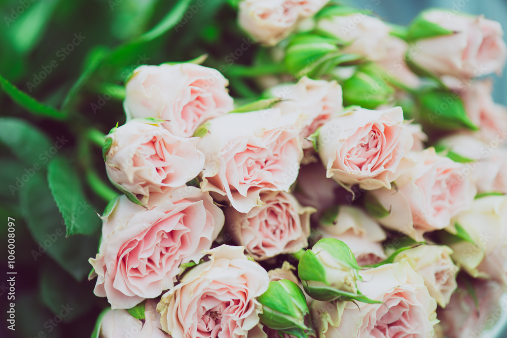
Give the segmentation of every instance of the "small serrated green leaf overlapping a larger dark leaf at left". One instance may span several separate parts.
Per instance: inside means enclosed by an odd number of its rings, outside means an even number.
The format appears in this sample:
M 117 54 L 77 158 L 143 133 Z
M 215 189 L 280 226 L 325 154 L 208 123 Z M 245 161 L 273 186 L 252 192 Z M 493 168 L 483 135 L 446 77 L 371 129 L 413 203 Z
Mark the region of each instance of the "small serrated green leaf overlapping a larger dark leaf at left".
M 101 221 L 83 193 L 79 175 L 62 158 L 48 165 L 48 182 L 67 227 L 67 236 L 91 235 L 100 229 Z

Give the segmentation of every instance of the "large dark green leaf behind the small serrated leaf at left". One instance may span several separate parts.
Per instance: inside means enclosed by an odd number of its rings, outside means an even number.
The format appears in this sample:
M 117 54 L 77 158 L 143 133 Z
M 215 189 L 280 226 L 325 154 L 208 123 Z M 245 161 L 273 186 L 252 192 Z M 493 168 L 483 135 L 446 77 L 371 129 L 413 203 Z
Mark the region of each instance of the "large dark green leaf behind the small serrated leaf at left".
M 19 195 L 28 229 L 39 244 L 30 252 L 34 260 L 48 254 L 76 280 L 84 279 L 90 270 L 88 258 L 95 255 L 98 236 L 65 238 L 64 222 L 41 173 L 30 178 Z

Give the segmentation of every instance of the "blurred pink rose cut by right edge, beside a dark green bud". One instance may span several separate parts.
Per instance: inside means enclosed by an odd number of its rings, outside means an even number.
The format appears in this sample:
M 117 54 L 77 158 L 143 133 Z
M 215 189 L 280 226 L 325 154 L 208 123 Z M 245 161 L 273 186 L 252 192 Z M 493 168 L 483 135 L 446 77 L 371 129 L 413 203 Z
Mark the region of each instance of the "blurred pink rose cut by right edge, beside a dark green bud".
M 467 87 L 461 98 L 470 120 L 480 128 L 478 135 L 495 146 L 507 138 L 507 107 L 493 102 L 491 80 L 477 80 Z

